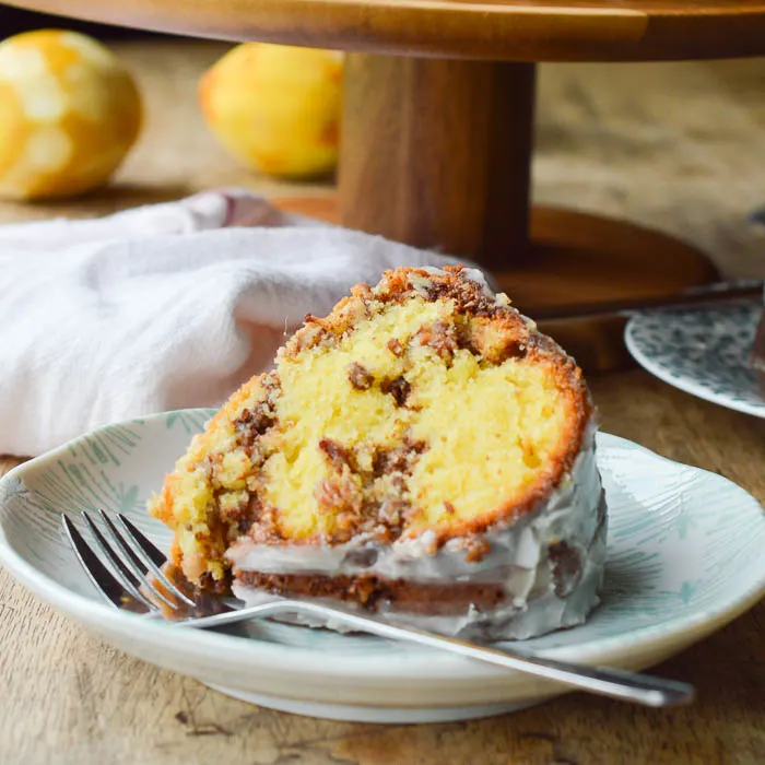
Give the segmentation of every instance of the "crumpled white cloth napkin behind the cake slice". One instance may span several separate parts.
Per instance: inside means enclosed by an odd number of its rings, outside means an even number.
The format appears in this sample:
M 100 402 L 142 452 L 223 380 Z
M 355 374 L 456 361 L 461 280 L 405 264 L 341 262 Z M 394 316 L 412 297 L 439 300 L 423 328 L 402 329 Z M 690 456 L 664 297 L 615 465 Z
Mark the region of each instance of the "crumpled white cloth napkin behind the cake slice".
M 0 226 L 0 454 L 216 405 L 356 282 L 449 262 L 237 190 Z

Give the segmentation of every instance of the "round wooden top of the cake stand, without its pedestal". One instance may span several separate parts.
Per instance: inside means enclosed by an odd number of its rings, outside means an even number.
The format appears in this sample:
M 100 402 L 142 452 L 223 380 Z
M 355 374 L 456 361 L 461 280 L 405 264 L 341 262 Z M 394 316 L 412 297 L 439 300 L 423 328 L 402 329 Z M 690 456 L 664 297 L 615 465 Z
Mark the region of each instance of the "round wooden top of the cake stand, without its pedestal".
M 122 26 L 232 40 L 508 61 L 765 54 L 765 2 L 733 0 L 15 0 Z

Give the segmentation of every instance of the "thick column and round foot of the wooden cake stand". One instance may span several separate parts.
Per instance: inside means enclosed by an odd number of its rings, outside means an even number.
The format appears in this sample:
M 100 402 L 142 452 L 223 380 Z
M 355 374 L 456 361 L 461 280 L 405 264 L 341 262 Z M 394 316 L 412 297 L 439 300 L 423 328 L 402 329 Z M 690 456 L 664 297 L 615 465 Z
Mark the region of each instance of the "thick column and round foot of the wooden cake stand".
M 532 318 L 716 276 L 696 249 L 530 207 L 536 63 L 349 54 L 337 199 L 284 207 L 478 262 Z M 627 363 L 624 319 L 541 323 L 587 372 Z

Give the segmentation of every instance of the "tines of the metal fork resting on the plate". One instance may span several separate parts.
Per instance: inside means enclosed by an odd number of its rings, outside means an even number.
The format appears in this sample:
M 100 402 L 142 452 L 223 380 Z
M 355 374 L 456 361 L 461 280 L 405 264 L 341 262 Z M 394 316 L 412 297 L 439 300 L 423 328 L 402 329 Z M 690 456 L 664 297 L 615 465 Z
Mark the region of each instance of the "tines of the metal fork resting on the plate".
M 111 520 L 104 510 L 98 510 L 101 525 L 92 514 L 83 511 L 81 517 L 93 545 L 85 541 L 71 518 L 62 515 L 64 532 L 89 579 L 113 605 L 140 604 L 144 611 L 152 612 L 161 611 L 161 603 L 173 611 L 184 604 L 193 607 L 193 601 L 162 570 L 167 562 L 162 551 L 121 513 L 115 514 L 116 520 Z

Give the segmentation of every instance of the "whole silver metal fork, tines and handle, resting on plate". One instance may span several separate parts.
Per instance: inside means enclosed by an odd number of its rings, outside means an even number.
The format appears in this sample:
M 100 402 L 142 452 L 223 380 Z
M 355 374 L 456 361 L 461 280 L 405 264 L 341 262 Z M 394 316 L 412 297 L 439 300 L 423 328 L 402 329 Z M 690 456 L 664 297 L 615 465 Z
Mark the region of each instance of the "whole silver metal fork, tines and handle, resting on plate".
M 93 537 L 94 546 L 108 562 L 108 567 L 104 565 L 94 549 L 85 542 L 71 519 L 66 515 L 61 516 L 63 530 L 94 587 L 113 605 L 125 608 L 126 600 L 129 600 L 133 607 L 142 608 L 148 617 L 163 616 L 174 612 L 179 614 L 178 619 L 168 620 L 168 624 L 173 626 L 217 627 L 256 617 L 297 613 L 341 622 L 351 629 L 447 650 L 505 669 L 519 670 L 553 680 L 590 693 L 651 707 L 687 704 L 694 697 L 693 686 L 686 683 L 608 667 L 587 667 L 545 659 L 515 646 L 513 648 L 489 648 L 424 629 L 390 624 L 377 615 L 362 615 L 357 612 L 309 601 L 279 599 L 245 608 L 239 604 L 227 605 L 221 600 L 215 600 L 215 610 L 222 611 L 222 613 L 185 616 L 184 614 L 189 613 L 189 609 L 192 609 L 191 613 L 199 613 L 200 604 L 184 595 L 165 576 L 162 570 L 162 566 L 167 562 L 165 555 L 123 515 L 116 514 L 116 520 L 111 520 L 104 510 L 99 510 L 98 515 L 103 523 L 103 531 L 87 513 L 82 513 L 82 519 Z M 161 586 L 151 581 L 152 576 Z M 208 610 L 209 612 L 210 610 Z

